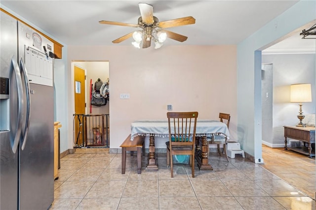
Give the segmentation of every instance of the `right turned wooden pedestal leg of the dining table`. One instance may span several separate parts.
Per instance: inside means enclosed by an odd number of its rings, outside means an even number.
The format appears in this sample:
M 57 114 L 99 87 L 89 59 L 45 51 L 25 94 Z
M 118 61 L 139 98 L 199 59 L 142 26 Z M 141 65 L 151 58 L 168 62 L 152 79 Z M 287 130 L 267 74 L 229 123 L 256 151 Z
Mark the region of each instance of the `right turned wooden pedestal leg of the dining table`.
M 213 170 L 212 166 L 208 164 L 208 142 L 206 140 L 206 136 L 203 136 L 202 141 L 200 142 L 200 139 L 197 138 L 196 143 L 196 160 L 197 160 L 197 166 L 199 170 Z M 198 144 L 198 145 L 197 145 Z M 200 148 L 200 144 L 201 147 Z M 202 150 L 201 150 L 202 149 Z

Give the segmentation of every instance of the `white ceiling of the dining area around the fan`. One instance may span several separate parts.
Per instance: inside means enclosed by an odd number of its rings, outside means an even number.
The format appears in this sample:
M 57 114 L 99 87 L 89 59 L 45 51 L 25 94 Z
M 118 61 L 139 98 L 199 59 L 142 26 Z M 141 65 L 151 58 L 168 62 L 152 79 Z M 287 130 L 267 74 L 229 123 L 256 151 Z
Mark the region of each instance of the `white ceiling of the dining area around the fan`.
M 239 43 L 298 0 L 143 2 L 154 6 L 154 16 L 159 21 L 186 16 L 196 19 L 194 25 L 168 29 L 188 36 L 188 40 L 181 43 L 167 39 L 165 45 L 222 45 Z M 8 12 L 19 14 L 19 18 L 28 20 L 65 45 L 131 45 L 132 38 L 118 44 L 112 41 L 136 28 L 104 25 L 99 21 L 137 24 L 140 17 L 139 1 L 135 0 L 1 0 L 0 3 Z

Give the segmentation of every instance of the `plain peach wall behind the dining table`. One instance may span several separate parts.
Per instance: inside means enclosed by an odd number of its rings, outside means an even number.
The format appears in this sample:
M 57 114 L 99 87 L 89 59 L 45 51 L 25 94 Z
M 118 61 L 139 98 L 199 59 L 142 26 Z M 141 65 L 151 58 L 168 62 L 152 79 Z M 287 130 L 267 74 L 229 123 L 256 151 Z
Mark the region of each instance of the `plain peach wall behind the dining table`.
M 231 139 L 237 140 L 237 47 L 68 46 L 68 68 L 75 60 L 110 62 L 110 147 L 119 148 L 136 119 L 166 119 L 173 111 L 199 112 L 200 119 L 231 113 Z M 69 71 L 68 78 L 72 78 Z M 69 90 L 71 85 L 68 84 Z M 130 99 L 119 99 L 128 93 Z M 69 93 L 70 94 L 70 93 Z M 69 110 L 73 104 L 69 103 Z M 71 127 L 71 126 L 70 126 Z M 163 143 L 156 146 L 164 147 Z

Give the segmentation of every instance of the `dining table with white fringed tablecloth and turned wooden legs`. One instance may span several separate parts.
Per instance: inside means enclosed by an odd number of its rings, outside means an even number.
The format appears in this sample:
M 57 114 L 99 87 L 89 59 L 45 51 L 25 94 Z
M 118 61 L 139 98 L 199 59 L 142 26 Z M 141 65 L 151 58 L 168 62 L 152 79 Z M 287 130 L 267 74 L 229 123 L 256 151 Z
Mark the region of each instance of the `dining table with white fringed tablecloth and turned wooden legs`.
M 213 170 L 208 162 L 208 137 L 220 135 L 229 139 L 227 125 L 218 120 L 197 120 L 195 159 L 199 170 Z M 155 137 L 169 137 L 168 120 L 136 120 L 131 123 L 131 140 L 136 136 L 149 137 L 147 170 L 158 170 L 155 153 Z

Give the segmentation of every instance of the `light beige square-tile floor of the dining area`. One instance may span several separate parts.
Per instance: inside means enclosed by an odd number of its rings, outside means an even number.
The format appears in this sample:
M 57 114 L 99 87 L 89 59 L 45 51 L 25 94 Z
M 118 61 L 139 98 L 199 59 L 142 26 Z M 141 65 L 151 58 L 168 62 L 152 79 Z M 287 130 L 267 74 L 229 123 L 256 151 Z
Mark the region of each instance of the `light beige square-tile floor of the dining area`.
M 158 154 L 158 171 L 137 174 L 137 159 L 127 155 L 121 174 L 121 154 L 105 149 L 77 149 L 61 159 L 50 210 L 315 210 L 316 202 L 260 165 L 239 155 L 226 162 L 210 153 L 213 171 L 195 178 L 185 164 L 166 167 Z

